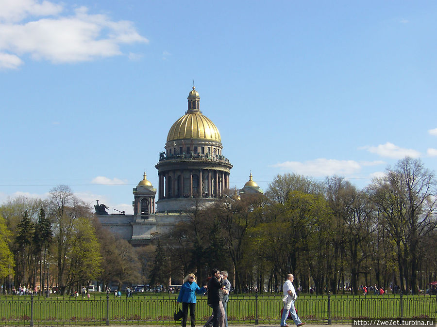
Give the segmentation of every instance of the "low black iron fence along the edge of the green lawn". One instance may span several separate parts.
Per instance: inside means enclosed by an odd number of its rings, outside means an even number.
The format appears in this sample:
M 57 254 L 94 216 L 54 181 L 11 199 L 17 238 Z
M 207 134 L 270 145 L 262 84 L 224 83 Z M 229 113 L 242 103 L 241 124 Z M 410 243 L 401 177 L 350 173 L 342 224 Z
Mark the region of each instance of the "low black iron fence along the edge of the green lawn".
M 230 296 L 229 325 L 279 325 L 282 296 Z M 70 298 L 43 296 L 0 297 L 0 325 L 168 325 L 176 310 L 175 296 L 91 296 Z M 353 318 L 437 318 L 437 296 L 301 296 L 296 308 L 302 321 L 350 323 Z M 196 321 L 211 314 L 206 297 L 198 296 Z

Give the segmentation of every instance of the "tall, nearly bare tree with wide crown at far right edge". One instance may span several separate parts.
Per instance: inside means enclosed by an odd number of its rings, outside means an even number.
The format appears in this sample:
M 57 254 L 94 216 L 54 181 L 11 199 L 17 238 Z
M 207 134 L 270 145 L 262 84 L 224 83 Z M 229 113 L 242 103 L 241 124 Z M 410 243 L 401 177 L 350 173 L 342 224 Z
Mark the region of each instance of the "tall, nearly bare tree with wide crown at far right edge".
M 420 238 L 436 229 L 437 184 L 434 173 L 419 159 L 405 157 L 370 186 L 398 253 L 401 288 L 417 291 Z M 405 279 L 406 285 L 403 285 Z

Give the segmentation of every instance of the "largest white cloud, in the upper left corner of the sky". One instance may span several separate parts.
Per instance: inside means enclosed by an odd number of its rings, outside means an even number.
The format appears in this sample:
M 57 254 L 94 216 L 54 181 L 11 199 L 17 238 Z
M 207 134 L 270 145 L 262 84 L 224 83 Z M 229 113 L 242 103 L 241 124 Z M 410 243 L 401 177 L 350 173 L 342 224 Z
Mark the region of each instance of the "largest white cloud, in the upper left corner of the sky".
M 17 5 L 13 4 L 15 1 Z M 50 1 L 0 1 L 0 51 L 15 56 L 16 62 L 27 54 L 34 60 L 54 63 L 83 62 L 121 55 L 121 44 L 149 42 L 130 21 L 88 14 L 86 7 L 76 9 L 70 16 L 52 16 L 62 9 Z M 43 17 L 30 19 L 34 16 Z M 0 67 L 7 67 L 12 60 L 0 57 Z

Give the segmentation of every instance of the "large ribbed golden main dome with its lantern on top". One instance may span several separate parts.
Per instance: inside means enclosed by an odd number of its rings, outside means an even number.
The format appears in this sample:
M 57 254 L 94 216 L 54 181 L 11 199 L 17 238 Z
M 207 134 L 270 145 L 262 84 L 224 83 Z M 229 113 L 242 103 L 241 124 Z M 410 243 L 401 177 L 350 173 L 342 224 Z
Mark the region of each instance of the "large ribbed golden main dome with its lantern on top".
M 199 93 L 193 90 L 188 94 L 188 110 L 168 131 L 167 142 L 184 139 L 206 139 L 221 142 L 218 128 L 199 109 Z

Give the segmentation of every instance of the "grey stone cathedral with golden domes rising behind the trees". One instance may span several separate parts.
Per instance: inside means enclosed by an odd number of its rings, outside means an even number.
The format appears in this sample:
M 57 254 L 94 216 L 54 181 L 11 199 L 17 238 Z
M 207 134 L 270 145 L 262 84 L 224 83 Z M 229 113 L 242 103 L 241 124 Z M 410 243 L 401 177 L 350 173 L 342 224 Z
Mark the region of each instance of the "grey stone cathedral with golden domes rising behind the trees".
M 158 199 L 156 188 L 143 179 L 133 189 L 134 215 L 108 215 L 104 204 L 95 205 L 102 225 L 133 245 L 147 244 L 168 233 L 179 221 L 187 219 L 195 205 L 207 206 L 230 188 L 232 164 L 223 156 L 220 133 L 214 123 L 202 114 L 200 96 L 195 87 L 188 94 L 188 109 L 170 127 L 165 151 L 159 154 Z M 263 193 L 252 180 L 240 194 Z

